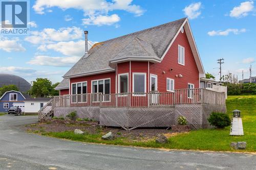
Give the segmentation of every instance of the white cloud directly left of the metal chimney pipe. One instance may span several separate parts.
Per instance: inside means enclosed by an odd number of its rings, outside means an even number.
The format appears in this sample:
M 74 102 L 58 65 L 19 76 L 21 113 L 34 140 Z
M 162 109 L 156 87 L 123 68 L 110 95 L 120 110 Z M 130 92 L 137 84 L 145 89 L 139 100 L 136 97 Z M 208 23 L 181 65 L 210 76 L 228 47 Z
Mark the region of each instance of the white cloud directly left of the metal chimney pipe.
M 84 41 L 58 42 L 55 44 L 40 45 L 40 51 L 54 50 L 66 56 L 82 56 L 84 53 Z

